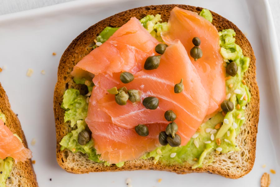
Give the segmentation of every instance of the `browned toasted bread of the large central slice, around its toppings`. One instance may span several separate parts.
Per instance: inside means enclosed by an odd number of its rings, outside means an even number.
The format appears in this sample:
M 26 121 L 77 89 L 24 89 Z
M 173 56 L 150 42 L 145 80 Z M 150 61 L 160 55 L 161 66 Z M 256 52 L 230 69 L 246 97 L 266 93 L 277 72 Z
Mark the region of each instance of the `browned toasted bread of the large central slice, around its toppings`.
M 255 160 L 256 135 L 259 121 L 259 89 L 256 82 L 256 59 L 254 51 L 245 35 L 238 29 L 236 25 L 228 21 L 226 18 L 211 12 L 213 16 L 212 24 L 216 26 L 218 31 L 223 29 L 234 29 L 236 32 L 236 43 L 240 45 L 245 56 L 250 58 L 249 70 L 244 75 L 244 80 L 250 89 L 252 95 L 250 103 L 245 109 L 246 122 L 240 129 L 237 137 L 237 144 L 241 151 L 231 154 L 215 154 L 209 156 L 213 158 L 213 162 L 204 163 L 201 168 L 192 169 L 188 163 L 178 165 L 164 165 L 160 162 L 154 164 L 152 159 L 138 159 L 126 161 L 124 166 L 118 168 L 115 165 L 105 166 L 104 164 L 95 163 L 87 159 L 82 153 L 72 153 L 68 150 L 60 151 L 59 142 L 72 129 L 70 123 L 64 123 L 64 110 L 60 107 L 63 100 L 63 93 L 66 89 L 76 88 L 83 93 L 84 88 L 77 85 L 70 75 L 74 65 L 76 65 L 85 55 L 91 51 L 91 47 L 95 45 L 94 39 L 106 27 L 119 27 L 124 25 L 131 17 L 141 19 L 146 15 L 161 14 L 161 19 L 167 22 L 171 10 L 175 7 L 187 9 L 189 11 L 199 13 L 203 8 L 188 5 L 156 5 L 139 7 L 124 12 L 120 12 L 108 17 L 95 25 L 89 27 L 82 32 L 63 53 L 58 67 L 58 82 L 54 91 L 54 116 L 56 122 L 57 137 L 57 162 L 68 172 L 72 173 L 88 173 L 101 171 L 121 171 L 121 170 L 166 170 L 176 172 L 178 174 L 192 172 L 209 172 L 215 173 L 227 178 L 237 179 L 246 175 L 252 169 Z

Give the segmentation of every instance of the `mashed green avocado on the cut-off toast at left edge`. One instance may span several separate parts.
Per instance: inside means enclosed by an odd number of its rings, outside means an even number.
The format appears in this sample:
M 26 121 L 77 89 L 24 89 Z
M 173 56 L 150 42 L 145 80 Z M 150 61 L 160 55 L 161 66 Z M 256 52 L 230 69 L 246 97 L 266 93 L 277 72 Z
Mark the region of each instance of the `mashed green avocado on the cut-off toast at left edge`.
M 0 112 L 0 120 L 6 122 L 5 114 Z M 6 186 L 6 180 L 10 176 L 10 172 L 13 166 L 13 159 L 7 157 L 4 160 L 0 158 L 0 187 Z

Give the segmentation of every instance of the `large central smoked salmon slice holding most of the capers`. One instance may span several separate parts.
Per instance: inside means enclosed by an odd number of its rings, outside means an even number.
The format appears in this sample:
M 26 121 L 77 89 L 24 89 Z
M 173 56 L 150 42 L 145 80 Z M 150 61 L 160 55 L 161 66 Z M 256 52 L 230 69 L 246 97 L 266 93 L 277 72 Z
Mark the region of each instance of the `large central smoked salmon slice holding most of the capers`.
M 141 60 L 135 63 L 141 63 Z M 119 74 L 104 70 L 93 78 L 96 86 L 92 90 L 85 121 L 92 132 L 96 153 L 101 154 L 100 159 L 118 163 L 139 158 L 154 150 L 160 145 L 159 132 L 164 131 L 169 123 L 164 118 L 166 110 L 176 113 L 181 145 L 186 145 L 206 115 L 209 97 L 181 42 L 174 41 L 166 48 L 156 70 L 138 70 L 134 72 L 134 80 L 128 84 L 120 81 Z M 184 91 L 174 93 L 174 85 L 181 79 Z M 139 90 L 141 100 L 147 96 L 157 97 L 159 106 L 149 110 L 142 102 L 130 101 L 120 106 L 115 102 L 114 95 L 107 92 L 114 86 Z M 147 125 L 147 137 L 135 132 L 134 127 L 138 124 Z

